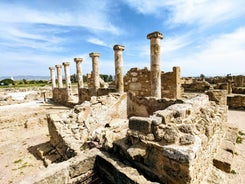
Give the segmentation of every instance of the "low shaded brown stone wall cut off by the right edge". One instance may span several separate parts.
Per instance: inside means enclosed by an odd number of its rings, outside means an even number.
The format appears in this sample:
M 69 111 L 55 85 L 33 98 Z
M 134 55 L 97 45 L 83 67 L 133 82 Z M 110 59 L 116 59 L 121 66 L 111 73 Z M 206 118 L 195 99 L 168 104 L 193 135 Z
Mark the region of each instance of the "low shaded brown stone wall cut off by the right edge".
M 227 105 L 230 109 L 245 110 L 245 95 L 227 96 Z

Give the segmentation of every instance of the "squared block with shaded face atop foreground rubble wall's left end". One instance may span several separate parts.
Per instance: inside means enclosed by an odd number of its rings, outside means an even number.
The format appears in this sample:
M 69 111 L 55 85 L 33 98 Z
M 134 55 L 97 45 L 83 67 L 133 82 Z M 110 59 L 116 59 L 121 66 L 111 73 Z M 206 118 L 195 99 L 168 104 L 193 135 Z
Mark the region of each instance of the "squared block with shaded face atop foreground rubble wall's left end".
M 129 129 L 149 134 L 151 133 L 151 118 L 133 116 L 129 119 Z

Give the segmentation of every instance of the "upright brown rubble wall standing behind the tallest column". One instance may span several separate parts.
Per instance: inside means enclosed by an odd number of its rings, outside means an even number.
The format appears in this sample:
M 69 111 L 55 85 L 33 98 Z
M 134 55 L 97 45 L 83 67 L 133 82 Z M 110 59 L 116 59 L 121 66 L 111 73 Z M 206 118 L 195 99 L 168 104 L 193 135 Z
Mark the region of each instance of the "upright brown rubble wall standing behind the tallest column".
M 151 77 L 148 68 L 131 68 L 124 77 L 124 90 L 140 97 L 151 96 Z M 161 93 L 165 98 L 180 98 L 180 68 L 173 67 L 172 72 L 161 75 Z

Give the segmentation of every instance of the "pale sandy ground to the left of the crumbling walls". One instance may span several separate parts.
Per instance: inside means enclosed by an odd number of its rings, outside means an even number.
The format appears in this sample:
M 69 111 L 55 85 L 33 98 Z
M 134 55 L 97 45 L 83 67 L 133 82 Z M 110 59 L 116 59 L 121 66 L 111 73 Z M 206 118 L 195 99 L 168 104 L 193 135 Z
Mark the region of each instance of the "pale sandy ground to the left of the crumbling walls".
M 18 183 L 44 168 L 33 148 L 49 141 L 46 114 L 67 110 L 42 101 L 0 106 L 0 183 Z

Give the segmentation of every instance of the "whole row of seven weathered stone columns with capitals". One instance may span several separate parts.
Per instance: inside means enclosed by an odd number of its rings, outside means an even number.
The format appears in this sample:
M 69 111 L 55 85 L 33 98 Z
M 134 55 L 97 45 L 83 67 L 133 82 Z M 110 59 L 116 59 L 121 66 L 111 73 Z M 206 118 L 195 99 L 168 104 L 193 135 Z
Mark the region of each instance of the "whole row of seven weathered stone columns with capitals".
M 160 40 L 163 39 L 163 35 L 160 32 L 153 32 L 147 35 L 147 39 L 150 39 L 150 55 L 151 55 L 151 96 L 161 98 L 161 67 L 160 67 Z M 119 93 L 124 92 L 124 83 L 123 83 L 123 56 L 122 51 L 125 47 L 122 45 L 114 45 L 114 59 L 115 59 L 115 84 L 116 89 Z M 92 77 L 94 79 L 93 88 L 96 92 L 100 88 L 100 75 L 99 75 L 99 66 L 98 58 L 99 53 L 92 52 L 89 54 L 92 58 Z M 83 75 L 81 69 L 82 58 L 74 58 L 76 62 L 77 77 L 78 77 L 78 88 L 83 88 Z M 69 71 L 69 62 L 64 62 L 64 70 L 66 76 L 66 88 L 68 91 L 68 96 L 71 95 L 71 81 L 70 81 L 70 71 Z M 62 66 L 56 65 L 57 69 L 57 80 L 58 88 L 62 88 Z M 50 75 L 52 80 L 52 88 L 56 87 L 55 84 L 55 74 L 54 67 L 50 67 Z

